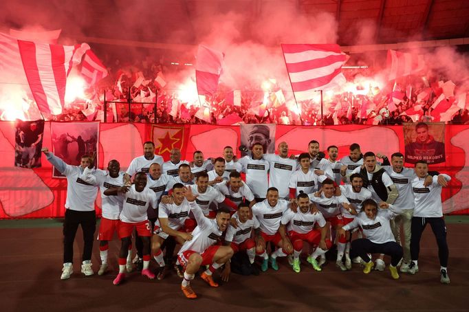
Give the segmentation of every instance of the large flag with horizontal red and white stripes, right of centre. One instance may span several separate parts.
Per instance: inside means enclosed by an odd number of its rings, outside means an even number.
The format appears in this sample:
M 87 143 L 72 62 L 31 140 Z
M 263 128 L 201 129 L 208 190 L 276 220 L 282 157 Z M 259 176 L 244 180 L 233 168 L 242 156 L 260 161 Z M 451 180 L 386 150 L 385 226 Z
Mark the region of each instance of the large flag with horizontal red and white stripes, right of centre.
M 314 98 L 316 90 L 332 89 L 345 83 L 341 73 L 347 55 L 339 45 L 282 45 L 285 65 L 297 101 Z

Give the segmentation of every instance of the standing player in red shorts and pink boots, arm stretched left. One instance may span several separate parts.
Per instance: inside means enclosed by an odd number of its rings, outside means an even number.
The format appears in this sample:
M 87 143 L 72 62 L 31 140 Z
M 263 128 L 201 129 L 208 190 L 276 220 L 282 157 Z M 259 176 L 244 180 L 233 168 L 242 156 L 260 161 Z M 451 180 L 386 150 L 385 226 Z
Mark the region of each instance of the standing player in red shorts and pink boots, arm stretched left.
M 146 215 L 146 210 L 150 204 L 153 207 L 157 206 L 157 197 L 153 190 L 146 188 L 146 179 L 144 172 L 137 172 L 133 186 L 109 188 L 104 192 L 106 196 L 120 196 L 120 199 L 124 202 L 118 227 L 119 238 L 122 242 L 119 252 L 119 274 L 113 280 L 114 285 L 119 285 L 125 279 L 126 259 L 134 228 L 143 243 L 142 276 L 146 276 L 151 280 L 155 278 L 155 274 L 149 269 L 151 223 Z

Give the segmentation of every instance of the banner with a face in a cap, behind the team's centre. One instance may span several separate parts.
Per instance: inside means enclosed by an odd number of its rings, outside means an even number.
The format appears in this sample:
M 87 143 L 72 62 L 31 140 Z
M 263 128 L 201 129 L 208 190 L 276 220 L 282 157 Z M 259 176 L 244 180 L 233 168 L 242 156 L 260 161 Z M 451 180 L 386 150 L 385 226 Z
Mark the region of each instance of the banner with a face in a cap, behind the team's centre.
M 251 151 L 255 143 L 263 146 L 265 154 L 275 152 L 275 124 L 241 124 L 241 146 Z M 244 156 L 247 153 L 241 151 Z

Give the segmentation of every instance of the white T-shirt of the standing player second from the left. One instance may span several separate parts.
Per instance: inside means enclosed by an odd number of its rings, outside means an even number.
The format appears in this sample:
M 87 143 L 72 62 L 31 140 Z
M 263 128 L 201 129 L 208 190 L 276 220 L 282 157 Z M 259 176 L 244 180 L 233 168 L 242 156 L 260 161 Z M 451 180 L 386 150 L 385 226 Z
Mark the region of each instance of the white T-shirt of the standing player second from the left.
M 122 199 L 117 196 L 106 196 L 105 190 L 108 188 L 120 188 L 124 186 L 124 172 L 119 172 L 118 177 L 113 178 L 109 172 L 100 169 L 83 170 L 82 179 L 94 186 L 99 186 L 101 192 L 101 215 L 109 220 L 118 220 L 120 211 L 122 210 Z

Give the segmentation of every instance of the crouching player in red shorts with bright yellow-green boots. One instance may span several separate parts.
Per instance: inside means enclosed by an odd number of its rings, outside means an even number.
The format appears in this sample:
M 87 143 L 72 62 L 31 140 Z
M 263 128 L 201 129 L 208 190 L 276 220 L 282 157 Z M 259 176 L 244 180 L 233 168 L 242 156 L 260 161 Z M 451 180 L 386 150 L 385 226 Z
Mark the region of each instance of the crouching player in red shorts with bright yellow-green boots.
M 326 221 L 323 214 L 317 211 L 311 211 L 307 194 L 298 194 L 296 201 L 298 203 L 298 211 L 285 211 L 279 227 L 279 233 L 282 238 L 286 235 L 286 227 L 290 241 L 292 241 L 293 244 L 293 262 L 290 263 L 290 265 L 292 265 L 293 271 L 296 273 L 301 271 L 300 255 L 303 251 L 303 242 L 307 242 L 309 245 L 317 246 L 316 250 L 307 257 L 307 262 L 311 263 L 316 271 L 321 271 L 321 267 L 318 265 L 316 258 L 325 254 L 332 245 L 331 241 L 326 239 Z M 317 230 L 314 229 L 314 225 L 316 224 L 320 227 Z

